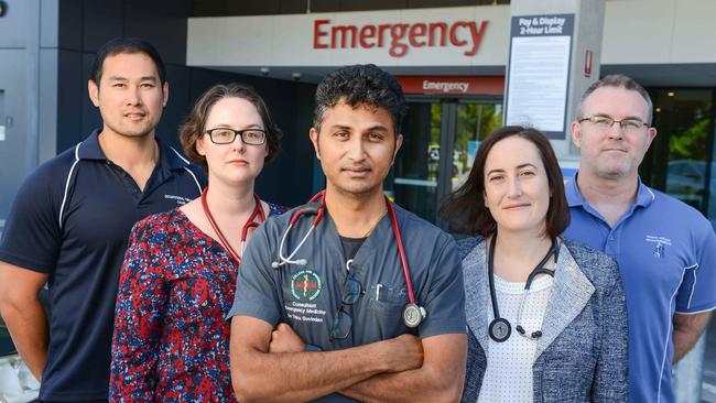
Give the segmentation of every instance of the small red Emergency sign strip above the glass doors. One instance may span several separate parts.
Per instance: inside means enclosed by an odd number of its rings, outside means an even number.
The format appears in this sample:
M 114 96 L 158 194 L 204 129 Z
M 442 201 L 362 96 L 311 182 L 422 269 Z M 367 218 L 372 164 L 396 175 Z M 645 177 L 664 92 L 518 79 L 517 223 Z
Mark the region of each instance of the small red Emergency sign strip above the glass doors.
M 505 94 L 505 77 L 397 77 L 406 95 Z

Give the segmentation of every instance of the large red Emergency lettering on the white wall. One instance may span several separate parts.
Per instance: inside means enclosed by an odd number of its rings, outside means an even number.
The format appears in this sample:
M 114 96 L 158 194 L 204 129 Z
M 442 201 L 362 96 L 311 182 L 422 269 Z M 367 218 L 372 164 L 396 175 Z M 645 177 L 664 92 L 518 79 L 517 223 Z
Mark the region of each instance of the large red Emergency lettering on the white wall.
M 379 25 L 330 25 L 330 20 L 315 20 L 313 48 L 372 48 L 390 46 L 393 57 L 408 54 L 410 47 L 453 46 L 465 47 L 465 56 L 475 56 L 480 47 L 487 21 L 456 21 L 379 24 Z

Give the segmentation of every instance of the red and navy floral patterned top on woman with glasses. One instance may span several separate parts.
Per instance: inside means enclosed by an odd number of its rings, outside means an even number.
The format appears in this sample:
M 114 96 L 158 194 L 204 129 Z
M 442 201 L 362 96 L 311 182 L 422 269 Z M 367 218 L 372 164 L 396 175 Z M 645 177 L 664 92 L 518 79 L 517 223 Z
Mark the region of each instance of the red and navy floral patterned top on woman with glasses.
M 270 216 L 285 207 L 269 204 Z M 237 265 L 178 208 L 132 229 L 119 279 L 111 402 L 236 402 L 229 322 Z

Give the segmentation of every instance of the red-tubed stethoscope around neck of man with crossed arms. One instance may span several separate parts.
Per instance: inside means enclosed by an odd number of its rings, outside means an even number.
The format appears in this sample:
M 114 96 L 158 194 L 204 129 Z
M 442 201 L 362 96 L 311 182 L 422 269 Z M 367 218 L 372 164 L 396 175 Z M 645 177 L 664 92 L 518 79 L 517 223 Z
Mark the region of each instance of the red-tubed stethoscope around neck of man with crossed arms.
M 326 211 L 325 193 L 326 190 L 318 192 L 315 196 L 313 196 L 308 200 L 307 205 L 301 207 L 300 209 L 293 213 L 293 216 L 291 216 L 291 220 L 289 221 L 289 227 L 286 227 L 286 230 L 283 232 L 283 236 L 281 237 L 281 244 L 279 246 L 279 260 L 271 263 L 271 266 L 273 269 L 279 269 L 284 264 L 299 264 L 299 265 L 306 264 L 305 259 L 296 259 L 296 260 L 292 260 L 292 259 L 296 254 L 296 252 L 299 252 L 301 247 L 305 243 L 305 241 L 308 239 L 313 230 L 316 229 L 316 226 L 318 226 L 318 224 L 323 219 L 323 216 L 325 215 Z M 398 254 L 400 255 L 400 263 L 403 268 L 403 277 L 405 279 L 405 288 L 408 291 L 408 304 L 405 304 L 405 307 L 403 308 L 403 323 L 408 327 L 417 327 L 423 322 L 423 319 L 427 317 L 427 312 L 425 311 L 424 307 L 417 305 L 417 302 L 415 299 L 415 294 L 413 292 L 413 282 L 410 279 L 408 258 L 405 257 L 405 250 L 403 249 L 403 240 L 400 236 L 400 229 L 398 228 L 398 219 L 395 218 L 395 209 L 393 208 L 388 197 L 387 196 L 383 197 L 386 198 L 386 207 L 388 208 L 388 213 L 390 215 L 390 221 L 393 227 L 393 236 L 395 237 L 395 244 L 398 246 Z M 286 237 L 291 231 L 291 229 L 295 226 L 296 221 L 299 221 L 299 218 L 301 218 L 301 216 L 303 215 L 315 215 L 316 217 L 313 219 L 313 224 L 311 225 L 311 228 L 308 228 L 308 231 L 301 239 L 301 241 L 293 250 L 293 252 L 289 253 L 288 257 L 284 257 L 283 246 L 285 243 Z

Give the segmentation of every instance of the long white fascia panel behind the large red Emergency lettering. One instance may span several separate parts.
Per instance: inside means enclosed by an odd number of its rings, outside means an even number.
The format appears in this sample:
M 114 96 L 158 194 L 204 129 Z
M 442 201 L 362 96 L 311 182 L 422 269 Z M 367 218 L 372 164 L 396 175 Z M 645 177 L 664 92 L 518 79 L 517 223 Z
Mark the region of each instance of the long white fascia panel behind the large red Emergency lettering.
M 315 20 L 332 25 L 487 20 L 475 56 L 456 46 L 410 48 L 402 57 L 382 48 L 313 48 Z M 507 62 L 509 6 L 336 12 L 291 15 L 191 18 L 187 34 L 189 66 L 340 66 L 375 63 L 381 66 L 495 66 Z M 468 40 L 465 31 L 460 40 Z M 325 40 L 325 37 L 324 37 Z M 403 40 L 406 42 L 406 40 Z

